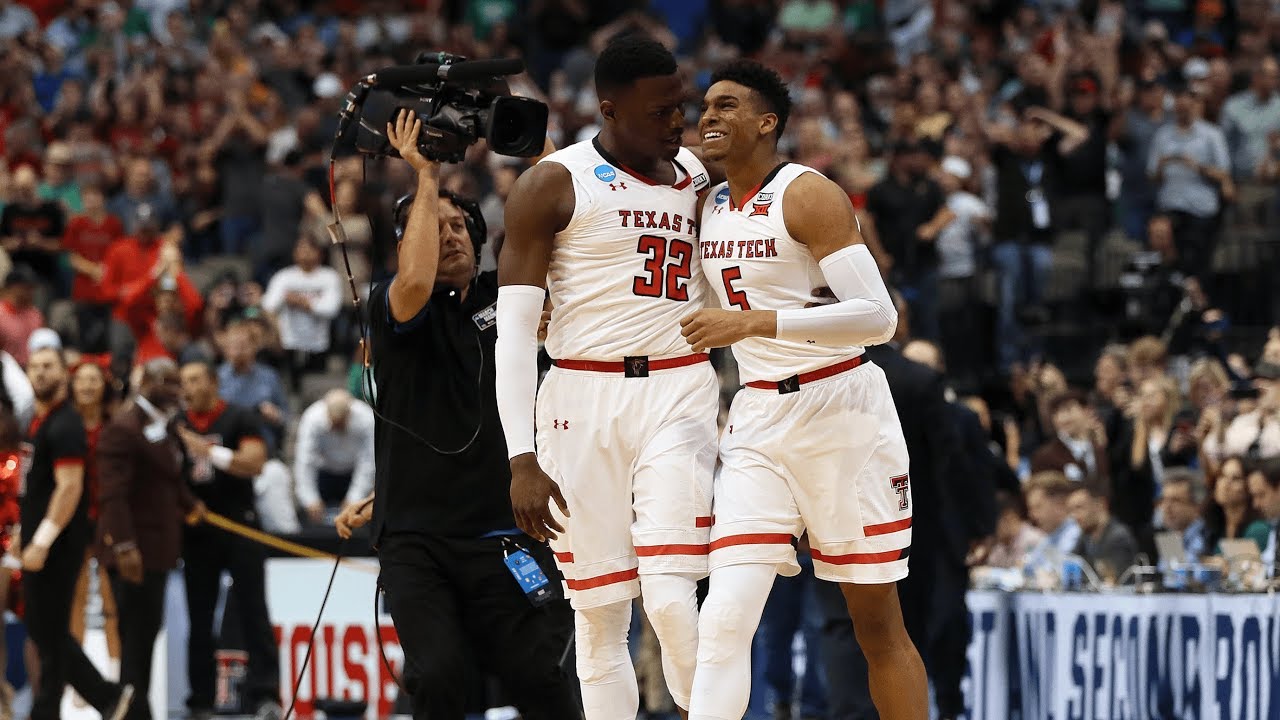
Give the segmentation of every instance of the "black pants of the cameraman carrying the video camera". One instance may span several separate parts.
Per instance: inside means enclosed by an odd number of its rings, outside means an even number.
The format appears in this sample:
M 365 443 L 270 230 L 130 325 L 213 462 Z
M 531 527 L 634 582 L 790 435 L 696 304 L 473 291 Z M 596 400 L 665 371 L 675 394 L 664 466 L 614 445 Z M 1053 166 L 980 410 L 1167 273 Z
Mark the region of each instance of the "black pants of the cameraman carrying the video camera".
M 525 536 L 553 585 L 550 551 Z M 561 660 L 572 635 L 568 603 L 534 607 L 503 562 L 499 538 L 397 533 L 381 539 L 379 582 L 404 648 L 415 720 L 462 720 L 474 657 L 502 683 L 525 720 L 581 717 Z

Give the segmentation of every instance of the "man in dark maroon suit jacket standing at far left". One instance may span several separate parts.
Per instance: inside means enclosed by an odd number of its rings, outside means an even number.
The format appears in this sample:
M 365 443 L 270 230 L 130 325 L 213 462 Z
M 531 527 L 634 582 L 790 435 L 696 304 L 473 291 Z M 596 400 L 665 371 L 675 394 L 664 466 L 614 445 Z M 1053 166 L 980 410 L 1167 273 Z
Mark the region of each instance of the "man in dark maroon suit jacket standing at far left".
M 204 514 L 187 487 L 182 441 L 170 427 L 180 391 L 173 360 L 151 360 L 142 366 L 137 397 L 102 429 L 97 446 L 101 560 L 119 607 L 120 680 L 140 693 L 131 720 L 151 719 L 146 698 L 165 580 L 178 566 L 183 516 L 193 523 Z

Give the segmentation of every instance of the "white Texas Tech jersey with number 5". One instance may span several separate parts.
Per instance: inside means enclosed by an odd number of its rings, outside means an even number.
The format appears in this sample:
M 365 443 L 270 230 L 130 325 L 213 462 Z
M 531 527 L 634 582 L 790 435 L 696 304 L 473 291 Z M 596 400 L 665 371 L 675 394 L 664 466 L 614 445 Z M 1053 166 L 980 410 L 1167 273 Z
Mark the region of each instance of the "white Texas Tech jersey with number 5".
M 809 249 L 787 233 L 782 197 L 791 181 L 813 168 L 785 163 L 760 187 L 730 199 L 728 183 L 712 188 L 703 206 L 703 272 L 727 310 L 788 310 L 822 302 L 822 268 Z M 820 173 L 818 173 L 820 174 Z M 855 345 L 824 346 L 753 337 L 733 345 L 742 382 L 781 380 L 861 355 Z

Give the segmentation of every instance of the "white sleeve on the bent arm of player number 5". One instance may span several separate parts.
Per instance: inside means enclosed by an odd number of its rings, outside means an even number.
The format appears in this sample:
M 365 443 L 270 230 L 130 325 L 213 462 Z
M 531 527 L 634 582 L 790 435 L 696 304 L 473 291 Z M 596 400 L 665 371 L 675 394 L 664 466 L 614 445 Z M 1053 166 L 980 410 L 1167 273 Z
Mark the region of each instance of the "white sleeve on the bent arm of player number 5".
M 778 340 L 819 345 L 879 345 L 893 337 L 897 310 L 876 259 L 851 245 L 822 261 L 822 274 L 840 302 L 778 310 Z

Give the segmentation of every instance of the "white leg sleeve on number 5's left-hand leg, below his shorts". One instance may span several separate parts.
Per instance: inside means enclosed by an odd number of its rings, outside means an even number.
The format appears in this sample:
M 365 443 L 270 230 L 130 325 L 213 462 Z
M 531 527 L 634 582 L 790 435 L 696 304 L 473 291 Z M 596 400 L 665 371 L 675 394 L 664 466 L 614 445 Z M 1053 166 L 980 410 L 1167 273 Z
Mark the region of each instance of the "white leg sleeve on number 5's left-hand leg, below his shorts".
M 751 638 L 777 568 L 730 565 L 712 571 L 698 619 L 698 671 L 689 720 L 740 720 L 751 696 Z

